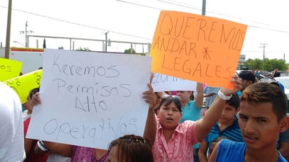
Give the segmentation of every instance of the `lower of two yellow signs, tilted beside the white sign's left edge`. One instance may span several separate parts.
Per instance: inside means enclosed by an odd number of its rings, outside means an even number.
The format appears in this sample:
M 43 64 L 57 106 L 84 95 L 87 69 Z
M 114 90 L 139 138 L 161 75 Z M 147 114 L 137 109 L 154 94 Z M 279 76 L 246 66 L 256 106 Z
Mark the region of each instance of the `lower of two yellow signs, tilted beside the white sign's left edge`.
M 19 95 L 22 103 L 27 101 L 27 96 L 33 88 L 40 87 L 42 78 L 42 69 L 18 76 L 13 79 L 4 81 L 8 86 L 10 86 Z

